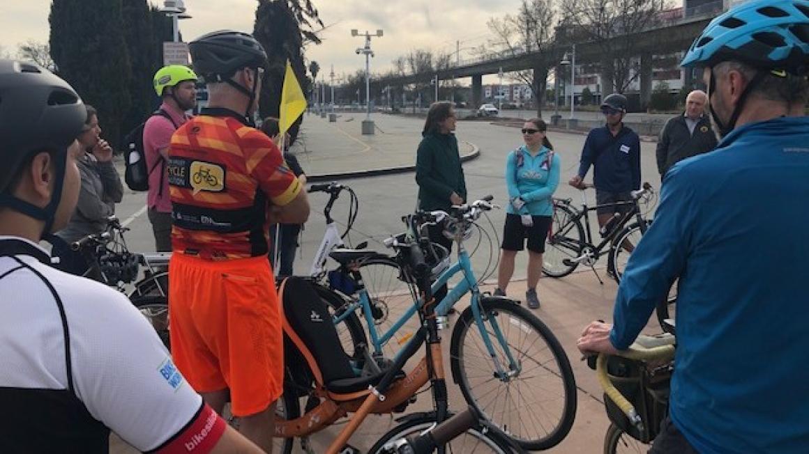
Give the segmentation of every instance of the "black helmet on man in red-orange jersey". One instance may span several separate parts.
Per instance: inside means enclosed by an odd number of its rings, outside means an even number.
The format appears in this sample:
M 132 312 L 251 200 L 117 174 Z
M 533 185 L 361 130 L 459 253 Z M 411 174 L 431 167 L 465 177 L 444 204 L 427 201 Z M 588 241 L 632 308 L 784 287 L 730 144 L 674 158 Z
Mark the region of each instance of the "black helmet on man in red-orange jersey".
M 230 78 L 242 68 L 264 68 L 267 53 L 251 35 L 220 30 L 200 36 L 188 44 L 194 71 L 203 77 Z

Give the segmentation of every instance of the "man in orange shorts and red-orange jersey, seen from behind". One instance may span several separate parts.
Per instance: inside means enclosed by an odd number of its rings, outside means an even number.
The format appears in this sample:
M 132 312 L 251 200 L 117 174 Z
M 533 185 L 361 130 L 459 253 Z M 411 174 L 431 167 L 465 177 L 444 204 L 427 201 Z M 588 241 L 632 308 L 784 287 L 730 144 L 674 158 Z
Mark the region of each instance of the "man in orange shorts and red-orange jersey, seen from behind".
M 210 98 L 168 152 L 172 355 L 214 410 L 231 401 L 239 431 L 270 452 L 283 345 L 268 226 L 303 223 L 309 204 L 273 141 L 252 128 L 267 64 L 261 45 L 224 31 L 189 48 Z

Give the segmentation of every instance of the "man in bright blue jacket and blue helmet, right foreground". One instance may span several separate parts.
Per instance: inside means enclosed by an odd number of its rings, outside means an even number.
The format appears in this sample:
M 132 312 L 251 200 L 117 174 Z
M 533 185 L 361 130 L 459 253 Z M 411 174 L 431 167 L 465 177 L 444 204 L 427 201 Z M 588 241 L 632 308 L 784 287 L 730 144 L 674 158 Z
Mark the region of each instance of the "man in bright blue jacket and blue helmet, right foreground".
M 744 3 L 694 41 L 683 66 L 704 68 L 723 138 L 667 172 L 615 325 L 578 340 L 587 353 L 629 347 L 679 276 L 669 415 L 651 453 L 809 449 L 807 11 Z

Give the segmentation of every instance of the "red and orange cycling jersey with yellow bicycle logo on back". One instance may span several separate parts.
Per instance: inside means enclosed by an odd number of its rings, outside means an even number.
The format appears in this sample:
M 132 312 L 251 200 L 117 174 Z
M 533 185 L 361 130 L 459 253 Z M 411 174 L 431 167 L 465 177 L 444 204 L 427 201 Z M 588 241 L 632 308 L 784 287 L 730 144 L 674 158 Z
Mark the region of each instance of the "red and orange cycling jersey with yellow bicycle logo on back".
M 301 184 L 273 141 L 227 109 L 204 109 L 172 136 L 172 249 L 225 260 L 267 253 L 267 207 Z

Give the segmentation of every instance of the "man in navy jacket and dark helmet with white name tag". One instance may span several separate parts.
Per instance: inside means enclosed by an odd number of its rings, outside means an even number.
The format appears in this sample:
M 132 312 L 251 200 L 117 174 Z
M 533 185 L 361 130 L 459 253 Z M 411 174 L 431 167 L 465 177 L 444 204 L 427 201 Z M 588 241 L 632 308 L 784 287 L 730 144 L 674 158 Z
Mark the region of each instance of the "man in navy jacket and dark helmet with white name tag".
M 595 210 L 601 227 L 616 212 L 629 210 L 629 204 L 616 203 L 631 201 L 630 192 L 641 188 L 641 139 L 623 123 L 626 104 L 626 97 L 617 93 L 604 98 L 601 112 L 607 124 L 587 134 L 578 174 L 569 182 L 583 189 L 582 180 L 590 166 L 594 167 L 595 203 L 604 205 Z

